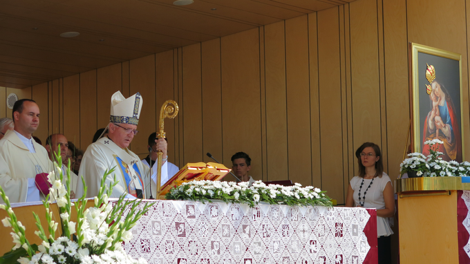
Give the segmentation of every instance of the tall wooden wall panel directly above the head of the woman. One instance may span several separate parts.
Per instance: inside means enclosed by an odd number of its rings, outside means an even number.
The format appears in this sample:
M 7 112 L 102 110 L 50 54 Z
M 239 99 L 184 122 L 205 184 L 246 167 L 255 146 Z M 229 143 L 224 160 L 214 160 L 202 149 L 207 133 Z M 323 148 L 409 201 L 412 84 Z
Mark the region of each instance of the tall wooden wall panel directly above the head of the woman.
M 354 140 L 351 155 L 354 155 L 355 150 L 364 142 L 374 142 L 379 147 L 382 144 L 377 37 L 376 1 L 362 0 L 350 3 Z

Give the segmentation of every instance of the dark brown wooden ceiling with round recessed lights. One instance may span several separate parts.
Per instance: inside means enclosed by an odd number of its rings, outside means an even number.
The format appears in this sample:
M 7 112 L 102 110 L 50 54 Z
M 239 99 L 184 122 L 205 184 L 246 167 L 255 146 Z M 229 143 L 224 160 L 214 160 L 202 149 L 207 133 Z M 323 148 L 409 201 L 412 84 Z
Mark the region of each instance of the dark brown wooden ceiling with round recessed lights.
M 41 84 L 354 0 L 173 1 L 0 0 L 0 86 Z

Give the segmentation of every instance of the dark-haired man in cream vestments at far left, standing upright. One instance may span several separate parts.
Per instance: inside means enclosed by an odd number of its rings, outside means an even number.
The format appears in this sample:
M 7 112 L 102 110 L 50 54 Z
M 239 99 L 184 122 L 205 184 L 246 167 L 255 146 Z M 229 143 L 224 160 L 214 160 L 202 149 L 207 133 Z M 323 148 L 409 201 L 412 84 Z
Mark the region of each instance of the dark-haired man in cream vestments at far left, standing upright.
M 35 179 L 44 183 L 45 173 L 53 171 L 53 163 L 46 149 L 32 140 L 39 126 L 39 106 L 29 99 L 15 102 L 13 122 L 15 129 L 6 131 L 0 140 L 0 185 L 10 202 L 41 200 L 44 195 Z

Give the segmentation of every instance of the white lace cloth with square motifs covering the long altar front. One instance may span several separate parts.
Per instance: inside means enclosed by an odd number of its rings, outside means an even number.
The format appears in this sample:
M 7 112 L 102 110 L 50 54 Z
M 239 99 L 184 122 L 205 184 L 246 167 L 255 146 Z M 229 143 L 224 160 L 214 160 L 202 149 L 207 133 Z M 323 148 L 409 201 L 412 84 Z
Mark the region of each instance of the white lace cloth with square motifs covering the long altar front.
M 158 200 L 124 249 L 153 264 L 363 263 L 364 208 Z

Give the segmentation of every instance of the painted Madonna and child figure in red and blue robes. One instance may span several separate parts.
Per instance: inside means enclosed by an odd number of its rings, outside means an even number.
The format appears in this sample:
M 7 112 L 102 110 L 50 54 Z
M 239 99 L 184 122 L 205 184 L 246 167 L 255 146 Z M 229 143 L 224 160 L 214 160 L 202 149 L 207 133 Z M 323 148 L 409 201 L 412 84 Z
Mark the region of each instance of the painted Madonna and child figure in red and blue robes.
M 431 111 L 424 122 L 423 142 L 438 138 L 438 151 L 444 153 L 443 160 L 462 162 L 462 138 L 452 98 L 443 84 L 434 79 L 429 93 Z M 423 144 L 423 154 L 429 155 L 429 145 Z

